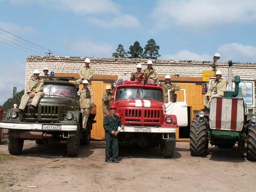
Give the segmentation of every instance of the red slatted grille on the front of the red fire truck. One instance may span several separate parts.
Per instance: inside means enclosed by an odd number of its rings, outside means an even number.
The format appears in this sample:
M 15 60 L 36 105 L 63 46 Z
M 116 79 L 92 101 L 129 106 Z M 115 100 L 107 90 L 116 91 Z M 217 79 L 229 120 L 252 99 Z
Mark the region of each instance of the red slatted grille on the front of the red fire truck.
M 160 122 L 160 116 L 159 110 L 125 110 L 126 122 Z

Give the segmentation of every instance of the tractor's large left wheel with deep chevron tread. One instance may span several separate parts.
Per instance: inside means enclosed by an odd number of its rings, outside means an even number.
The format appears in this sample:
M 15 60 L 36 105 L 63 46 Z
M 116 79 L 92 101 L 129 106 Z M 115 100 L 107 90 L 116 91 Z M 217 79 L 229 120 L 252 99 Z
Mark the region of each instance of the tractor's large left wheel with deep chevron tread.
M 206 156 L 208 144 L 206 122 L 198 122 L 198 118 L 194 118 L 190 127 L 189 146 L 191 156 Z

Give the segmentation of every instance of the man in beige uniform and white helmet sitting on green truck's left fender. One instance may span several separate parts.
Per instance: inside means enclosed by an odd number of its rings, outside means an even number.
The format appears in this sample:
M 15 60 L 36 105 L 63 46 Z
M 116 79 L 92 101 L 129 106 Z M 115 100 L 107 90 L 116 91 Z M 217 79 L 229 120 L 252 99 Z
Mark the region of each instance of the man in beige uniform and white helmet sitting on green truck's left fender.
M 40 72 L 37 69 L 33 71 L 34 77 L 28 82 L 27 90 L 20 101 L 18 113 L 24 113 L 24 109 L 29 101 L 29 98 L 33 98 L 31 104 L 29 105 L 29 112 L 31 114 L 34 113 L 34 110 L 42 97 L 42 92 L 44 91 L 44 80 L 39 78 L 39 74 Z

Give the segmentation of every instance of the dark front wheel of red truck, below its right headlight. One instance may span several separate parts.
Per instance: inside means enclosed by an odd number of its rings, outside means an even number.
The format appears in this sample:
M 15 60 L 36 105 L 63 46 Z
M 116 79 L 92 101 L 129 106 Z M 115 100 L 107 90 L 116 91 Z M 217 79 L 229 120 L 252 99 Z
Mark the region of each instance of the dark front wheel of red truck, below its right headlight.
M 169 133 L 169 139 L 163 139 L 160 143 L 161 156 L 165 158 L 172 158 L 174 156 L 176 147 L 175 133 Z

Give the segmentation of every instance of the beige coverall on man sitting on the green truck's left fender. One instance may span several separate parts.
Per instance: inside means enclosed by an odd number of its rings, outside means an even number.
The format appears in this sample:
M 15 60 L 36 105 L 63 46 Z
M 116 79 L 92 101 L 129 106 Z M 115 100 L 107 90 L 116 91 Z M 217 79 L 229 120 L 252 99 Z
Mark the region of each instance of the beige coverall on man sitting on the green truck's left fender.
M 22 96 L 22 100 L 20 101 L 19 109 L 24 110 L 28 100 L 29 100 L 29 93 L 35 93 L 34 98 L 32 99 L 31 104 L 34 106 L 37 106 L 39 103 L 41 97 L 42 97 L 42 92 L 44 91 L 44 80 L 42 79 L 30 79 L 28 84 L 27 84 L 27 90 L 26 93 Z

